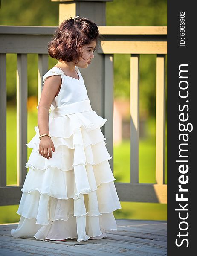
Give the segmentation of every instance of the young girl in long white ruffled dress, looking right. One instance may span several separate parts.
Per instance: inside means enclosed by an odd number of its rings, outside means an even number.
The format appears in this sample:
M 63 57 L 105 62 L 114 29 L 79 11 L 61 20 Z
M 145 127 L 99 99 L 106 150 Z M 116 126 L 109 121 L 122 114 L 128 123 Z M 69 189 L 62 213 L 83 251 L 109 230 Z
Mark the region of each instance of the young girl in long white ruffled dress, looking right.
M 98 37 L 96 24 L 77 16 L 62 22 L 48 44 L 58 63 L 43 76 L 14 237 L 80 242 L 117 230 L 113 211 L 122 207 L 100 129 L 107 119 L 92 110 L 78 69 L 93 61 Z

